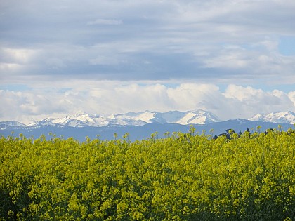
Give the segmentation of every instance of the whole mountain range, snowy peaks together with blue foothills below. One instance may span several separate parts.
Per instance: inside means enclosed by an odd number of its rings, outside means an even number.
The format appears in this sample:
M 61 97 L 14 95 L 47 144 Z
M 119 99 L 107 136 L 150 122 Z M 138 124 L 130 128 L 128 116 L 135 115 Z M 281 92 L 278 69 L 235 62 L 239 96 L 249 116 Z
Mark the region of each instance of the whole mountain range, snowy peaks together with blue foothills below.
M 126 114 L 112 114 L 110 116 L 98 116 L 96 114 L 79 114 L 65 116 L 63 118 L 46 118 L 41 121 L 25 125 L 18 121 L 0 122 L 0 135 L 8 136 L 13 132 L 15 136 L 20 133 L 26 137 L 39 138 L 49 133 L 64 138 L 73 137 L 78 140 L 96 138 L 114 138 L 114 133 L 122 136 L 129 133 L 131 140 L 145 139 L 157 131 L 159 138 L 164 133 L 183 132 L 188 133 L 190 125 L 194 125 L 198 133 L 213 130 L 214 135 L 225 133 L 225 130 L 232 128 L 235 131 L 244 131 L 247 128 L 252 130 L 261 126 L 261 130 L 277 128 L 279 124 L 284 130 L 293 128 L 295 123 L 294 112 L 275 112 L 270 114 L 256 114 L 250 119 L 231 119 L 221 121 L 218 116 L 211 112 L 197 109 L 195 111 L 170 111 L 170 112 L 129 112 Z

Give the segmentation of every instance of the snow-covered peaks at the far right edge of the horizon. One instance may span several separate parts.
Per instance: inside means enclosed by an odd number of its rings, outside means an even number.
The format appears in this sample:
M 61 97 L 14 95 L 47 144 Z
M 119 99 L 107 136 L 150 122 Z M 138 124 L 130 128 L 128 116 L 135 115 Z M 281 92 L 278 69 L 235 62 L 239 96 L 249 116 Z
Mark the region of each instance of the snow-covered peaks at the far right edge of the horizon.
M 250 121 L 263 121 L 271 123 L 295 123 L 295 114 L 294 112 L 274 112 L 270 114 L 256 114 L 252 116 Z

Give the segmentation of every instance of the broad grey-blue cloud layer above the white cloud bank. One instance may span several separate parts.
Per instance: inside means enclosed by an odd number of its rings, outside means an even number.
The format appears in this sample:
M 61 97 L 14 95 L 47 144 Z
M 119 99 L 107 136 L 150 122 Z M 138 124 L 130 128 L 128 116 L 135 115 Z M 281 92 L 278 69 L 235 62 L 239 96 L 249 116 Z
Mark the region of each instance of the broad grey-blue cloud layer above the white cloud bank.
M 0 4 L 0 68 L 11 81 L 31 74 L 295 81 L 295 58 L 278 48 L 284 36 L 295 37 L 294 1 Z

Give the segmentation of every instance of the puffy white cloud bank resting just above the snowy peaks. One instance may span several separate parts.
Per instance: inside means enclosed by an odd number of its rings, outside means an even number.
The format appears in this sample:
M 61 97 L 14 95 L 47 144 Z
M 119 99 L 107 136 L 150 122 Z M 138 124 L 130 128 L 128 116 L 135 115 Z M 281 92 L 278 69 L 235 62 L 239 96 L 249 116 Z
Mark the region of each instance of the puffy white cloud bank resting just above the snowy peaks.
M 76 83 L 80 86 L 76 86 Z M 72 89 L 60 90 L 2 90 L 0 120 L 14 119 L 29 123 L 28 121 L 34 119 L 79 112 L 108 115 L 130 111 L 166 112 L 199 108 L 209 110 L 226 120 L 249 119 L 257 113 L 295 111 L 295 91 L 287 94 L 278 90 L 263 91 L 230 85 L 222 93 L 214 84 L 181 83 L 176 87 L 170 87 L 160 83 L 139 85 L 110 81 L 77 81 L 72 86 Z

